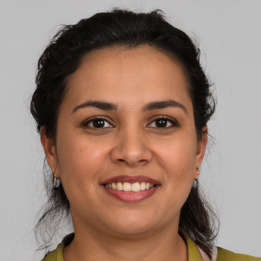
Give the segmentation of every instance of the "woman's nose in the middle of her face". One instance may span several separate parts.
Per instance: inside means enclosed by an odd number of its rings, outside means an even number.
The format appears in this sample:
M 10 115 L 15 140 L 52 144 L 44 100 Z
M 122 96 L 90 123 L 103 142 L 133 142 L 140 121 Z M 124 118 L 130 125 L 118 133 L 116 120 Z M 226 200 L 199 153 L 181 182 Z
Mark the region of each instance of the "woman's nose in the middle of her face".
M 145 165 L 152 159 L 149 142 L 138 129 L 122 129 L 115 138 L 111 159 L 130 167 Z

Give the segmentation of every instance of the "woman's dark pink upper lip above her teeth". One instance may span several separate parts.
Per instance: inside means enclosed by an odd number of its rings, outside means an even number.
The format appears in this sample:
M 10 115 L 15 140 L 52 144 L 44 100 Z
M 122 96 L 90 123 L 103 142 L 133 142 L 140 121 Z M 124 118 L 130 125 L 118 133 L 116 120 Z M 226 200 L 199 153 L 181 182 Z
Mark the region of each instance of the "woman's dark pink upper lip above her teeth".
M 114 176 L 106 179 L 105 181 L 101 182 L 101 185 L 103 184 L 110 184 L 110 183 L 117 183 L 117 182 L 128 182 L 128 183 L 135 183 L 135 182 L 148 182 L 152 185 L 160 185 L 160 182 L 150 178 L 146 177 L 143 175 L 134 175 L 134 176 L 129 176 L 129 175 L 119 175 L 119 176 Z

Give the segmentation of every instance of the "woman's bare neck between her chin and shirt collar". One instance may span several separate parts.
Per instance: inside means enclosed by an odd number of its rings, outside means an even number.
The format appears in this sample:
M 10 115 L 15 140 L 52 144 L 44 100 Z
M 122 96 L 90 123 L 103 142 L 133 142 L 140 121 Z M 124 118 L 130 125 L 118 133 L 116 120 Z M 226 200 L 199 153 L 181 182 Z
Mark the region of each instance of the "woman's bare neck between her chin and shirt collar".
M 187 261 L 188 251 L 178 228 L 166 226 L 131 236 L 112 236 L 95 228 L 75 228 L 74 240 L 64 249 L 64 261 L 132 260 Z

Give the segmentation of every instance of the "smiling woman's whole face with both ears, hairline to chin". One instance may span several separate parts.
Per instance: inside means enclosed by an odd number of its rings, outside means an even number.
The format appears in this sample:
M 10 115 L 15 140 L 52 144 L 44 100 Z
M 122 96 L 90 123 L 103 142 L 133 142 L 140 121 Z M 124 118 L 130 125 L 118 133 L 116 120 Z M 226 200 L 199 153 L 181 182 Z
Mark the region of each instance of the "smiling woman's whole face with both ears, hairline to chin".
M 67 88 L 56 145 L 44 133 L 42 144 L 75 231 L 177 228 L 206 141 L 179 63 L 152 47 L 96 50 Z

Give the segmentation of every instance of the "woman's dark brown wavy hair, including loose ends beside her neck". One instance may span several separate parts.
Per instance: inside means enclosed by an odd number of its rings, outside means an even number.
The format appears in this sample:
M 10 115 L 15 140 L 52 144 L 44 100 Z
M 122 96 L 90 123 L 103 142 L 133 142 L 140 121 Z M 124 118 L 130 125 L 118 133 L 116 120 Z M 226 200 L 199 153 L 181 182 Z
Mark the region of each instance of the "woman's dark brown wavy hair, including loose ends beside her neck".
M 31 113 L 37 130 L 45 126 L 47 137 L 56 140 L 58 110 L 66 92 L 68 77 L 79 67 L 82 58 L 95 49 L 110 46 L 135 48 L 148 45 L 175 57 L 185 70 L 193 104 L 197 137 L 202 138 L 203 127 L 215 111 L 211 84 L 200 64 L 200 50 L 183 31 L 173 27 L 160 10 L 136 13 L 114 9 L 82 19 L 74 25 L 63 26 L 50 41 L 38 61 L 36 90 L 31 101 Z M 63 186 L 51 188 L 46 183 L 48 202 L 36 231 L 49 228 L 45 243 L 56 231 L 51 224 L 62 222 L 69 216 L 70 206 Z M 187 233 L 196 244 L 211 254 L 216 237 L 212 208 L 192 188 L 181 208 L 180 233 Z

